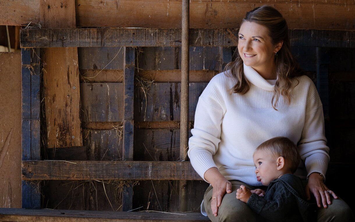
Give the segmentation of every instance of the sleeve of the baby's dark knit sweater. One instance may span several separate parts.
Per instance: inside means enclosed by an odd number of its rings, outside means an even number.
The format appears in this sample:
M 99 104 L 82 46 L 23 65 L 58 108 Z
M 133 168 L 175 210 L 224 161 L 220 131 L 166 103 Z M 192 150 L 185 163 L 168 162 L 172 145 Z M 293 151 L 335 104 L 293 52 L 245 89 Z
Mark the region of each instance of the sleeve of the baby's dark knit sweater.
M 284 221 L 289 216 L 290 209 L 295 210 L 297 201 L 291 192 L 286 192 L 284 186 L 275 184 L 271 199 L 260 197 L 253 193 L 247 205 L 258 215 L 271 221 Z

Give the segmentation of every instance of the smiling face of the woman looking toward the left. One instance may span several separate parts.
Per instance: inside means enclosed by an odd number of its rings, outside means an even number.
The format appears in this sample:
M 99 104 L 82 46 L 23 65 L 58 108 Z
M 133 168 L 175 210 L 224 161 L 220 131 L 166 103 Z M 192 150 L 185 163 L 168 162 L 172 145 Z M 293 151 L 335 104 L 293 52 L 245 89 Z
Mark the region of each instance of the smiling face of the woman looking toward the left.
M 256 70 L 268 70 L 274 64 L 275 52 L 267 28 L 255 22 L 243 22 L 238 34 L 238 51 L 244 64 Z

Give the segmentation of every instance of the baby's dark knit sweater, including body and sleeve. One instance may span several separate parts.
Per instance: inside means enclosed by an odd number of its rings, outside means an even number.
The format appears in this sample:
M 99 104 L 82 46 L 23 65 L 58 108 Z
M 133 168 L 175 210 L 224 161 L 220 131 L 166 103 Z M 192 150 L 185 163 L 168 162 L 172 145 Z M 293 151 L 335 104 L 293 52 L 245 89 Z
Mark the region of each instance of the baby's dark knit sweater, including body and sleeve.
M 317 204 L 305 197 L 301 179 L 288 173 L 271 181 L 264 197 L 253 193 L 247 205 L 268 221 L 316 221 Z

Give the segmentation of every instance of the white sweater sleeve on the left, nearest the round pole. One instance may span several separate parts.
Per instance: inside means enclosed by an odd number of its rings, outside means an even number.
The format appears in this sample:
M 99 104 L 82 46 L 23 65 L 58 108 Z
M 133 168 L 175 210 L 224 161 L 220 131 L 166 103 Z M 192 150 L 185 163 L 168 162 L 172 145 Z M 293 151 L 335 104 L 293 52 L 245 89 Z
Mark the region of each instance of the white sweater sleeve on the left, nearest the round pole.
M 198 99 L 187 152 L 193 169 L 204 181 L 204 173 L 212 167 L 217 167 L 212 156 L 218 149 L 224 115 L 220 105 L 221 96 L 214 86 L 214 81 L 215 78 L 209 82 Z

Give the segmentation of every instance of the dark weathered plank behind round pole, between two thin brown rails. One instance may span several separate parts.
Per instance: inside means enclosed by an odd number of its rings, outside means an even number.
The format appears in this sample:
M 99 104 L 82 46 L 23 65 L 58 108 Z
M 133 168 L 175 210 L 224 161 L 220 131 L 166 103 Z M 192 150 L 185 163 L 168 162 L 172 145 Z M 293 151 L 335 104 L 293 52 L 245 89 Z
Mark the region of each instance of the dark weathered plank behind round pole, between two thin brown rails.
M 189 119 L 195 119 L 195 109 L 207 83 L 190 83 Z M 153 83 L 144 93 L 135 90 L 135 121 L 178 121 L 180 120 L 180 83 Z

